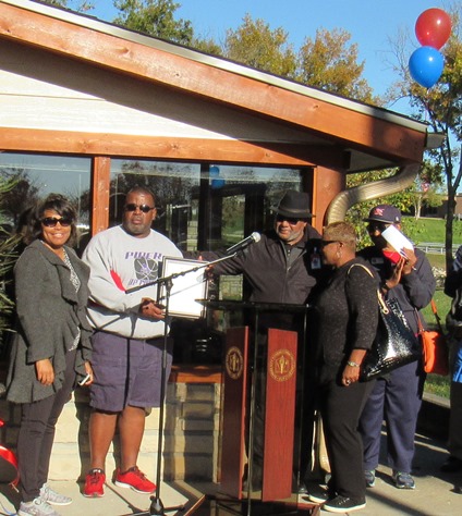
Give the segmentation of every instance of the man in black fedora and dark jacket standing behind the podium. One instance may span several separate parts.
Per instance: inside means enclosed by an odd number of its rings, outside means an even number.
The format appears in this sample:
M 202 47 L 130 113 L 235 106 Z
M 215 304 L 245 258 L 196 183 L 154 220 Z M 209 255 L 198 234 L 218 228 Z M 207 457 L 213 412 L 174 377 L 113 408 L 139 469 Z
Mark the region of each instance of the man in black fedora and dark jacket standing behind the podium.
M 255 303 L 277 303 L 289 305 L 306 305 L 309 294 L 321 273 L 320 234 L 309 224 L 309 196 L 306 193 L 289 189 L 278 206 L 271 210 L 276 213 L 273 229 L 262 234 L 262 238 L 250 245 L 244 251 L 229 260 L 214 266 L 216 274 L 243 274 L 250 285 L 248 299 Z M 204 258 L 210 259 L 208 254 Z M 288 310 L 289 311 L 289 310 Z M 301 317 L 299 316 L 299 319 Z M 303 334 L 303 323 L 297 316 L 290 312 L 275 314 L 259 317 L 259 328 L 279 328 L 285 330 L 300 329 Z M 259 342 L 262 340 L 259 339 Z M 301 343 L 300 347 L 306 346 Z M 256 397 L 258 405 L 264 403 L 264 388 L 258 389 Z M 305 396 L 305 401 L 308 396 Z M 308 403 L 308 402 L 306 402 Z M 258 421 L 256 427 L 263 425 Z M 301 477 L 308 466 L 312 444 L 312 422 L 306 417 L 306 437 L 302 437 L 302 447 L 306 455 L 302 456 Z M 304 420 L 305 422 L 305 420 Z M 257 433 L 258 430 L 255 432 Z M 259 477 L 259 460 L 262 459 L 262 442 L 254 442 L 253 471 L 256 481 Z M 306 492 L 304 488 L 303 492 Z

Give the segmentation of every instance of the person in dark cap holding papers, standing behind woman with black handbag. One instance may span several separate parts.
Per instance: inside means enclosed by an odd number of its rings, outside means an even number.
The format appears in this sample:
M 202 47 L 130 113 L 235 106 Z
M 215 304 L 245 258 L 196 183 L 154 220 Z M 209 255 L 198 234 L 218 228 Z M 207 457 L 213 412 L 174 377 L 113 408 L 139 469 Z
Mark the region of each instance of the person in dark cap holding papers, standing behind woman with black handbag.
M 358 255 L 377 270 L 381 291 L 387 298 L 397 298 L 415 333 L 420 310 L 430 303 L 435 278 L 425 254 L 420 249 L 394 249 L 382 236 L 393 225 L 401 230 L 401 212 L 391 205 L 378 205 L 365 219 L 374 245 Z M 412 247 L 412 246 L 411 246 Z M 399 489 L 414 489 L 411 476 L 414 457 L 414 434 L 422 403 L 425 373 L 420 361 L 402 366 L 377 380 L 360 422 L 364 445 L 364 475 L 367 487 L 375 483 L 380 451 L 382 420 L 387 421 L 388 464 Z

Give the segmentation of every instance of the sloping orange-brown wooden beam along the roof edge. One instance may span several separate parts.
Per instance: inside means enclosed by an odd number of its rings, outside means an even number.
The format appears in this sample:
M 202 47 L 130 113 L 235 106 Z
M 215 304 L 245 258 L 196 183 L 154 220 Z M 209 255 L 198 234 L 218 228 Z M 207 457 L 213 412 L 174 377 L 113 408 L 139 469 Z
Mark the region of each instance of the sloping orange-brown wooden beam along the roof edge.
M 380 156 L 421 162 L 426 134 L 392 121 L 301 95 L 157 48 L 0 4 L 0 37 L 153 81 L 214 101 L 305 127 Z M 307 88 L 308 90 L 308 88 Z

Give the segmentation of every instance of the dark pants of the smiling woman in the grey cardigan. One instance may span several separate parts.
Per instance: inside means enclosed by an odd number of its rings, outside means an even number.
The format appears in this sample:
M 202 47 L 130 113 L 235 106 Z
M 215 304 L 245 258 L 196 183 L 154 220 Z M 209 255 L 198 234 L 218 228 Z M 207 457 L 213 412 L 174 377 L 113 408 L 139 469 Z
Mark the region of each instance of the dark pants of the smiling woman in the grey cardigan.
M 21 406 L 21 427 L 17 435 L 20 493 L 23 502 L 39 495 L 48 479 L 51 449 L 58 418 L 69 402 L 75 382 L 75 351 L 66 354 L 66 370 L 62 388 L 52 396 Z

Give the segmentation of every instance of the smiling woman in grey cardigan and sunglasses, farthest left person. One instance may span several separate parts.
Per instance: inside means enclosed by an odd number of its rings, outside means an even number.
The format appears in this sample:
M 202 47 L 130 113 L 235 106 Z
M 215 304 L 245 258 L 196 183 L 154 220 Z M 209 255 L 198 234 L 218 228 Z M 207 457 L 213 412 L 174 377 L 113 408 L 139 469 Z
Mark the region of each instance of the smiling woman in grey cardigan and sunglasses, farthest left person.
M 57 516 L 49 504 L 68 505 L 47 484 L 54 427 L 76 379 L 90 383 L 90 328 L 86 319 L 88 267 L 69 247 L 76 216 L 50 194 L 31 217 L 14 268 L 16 333 L 7 397 L 21 404 L 17 438 L 20 516 Z

